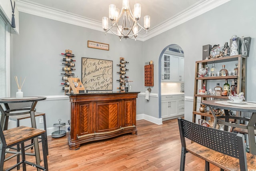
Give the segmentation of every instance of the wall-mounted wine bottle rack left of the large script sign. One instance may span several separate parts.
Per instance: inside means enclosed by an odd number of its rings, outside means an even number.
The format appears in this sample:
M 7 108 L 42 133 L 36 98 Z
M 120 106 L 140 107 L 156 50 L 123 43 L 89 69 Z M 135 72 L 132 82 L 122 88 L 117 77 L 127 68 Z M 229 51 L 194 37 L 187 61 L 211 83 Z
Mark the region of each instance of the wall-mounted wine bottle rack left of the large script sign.
M 68 78 L 72 78 L 75 76 L 74 73 L 72 73 L 75 67 L 74 62 L 76 62 L 76 60 L 73 60 L 72 58 L 75 57 L 74 54 L 72 54 L 72 50 L 65 50 L 65 53 L 62 53 L 62 55 L 65 56 L 65 58 L 63 58 L 63 65 L 64 67 L 62 68 L 62 71 L 64 71 L 65 73 L 61 73 L 64 76 L 62 77 L 62 80 L 64 81 L 64 83 L 61 83 L 62 85 L 64 85 L 64 87 L 62 87 L 62 89 L 65 91 L 65 94 L 68 92 L 70 93 L 70 82 L 68 82 Z M 65 63 L 64 63 L 65 62 Z

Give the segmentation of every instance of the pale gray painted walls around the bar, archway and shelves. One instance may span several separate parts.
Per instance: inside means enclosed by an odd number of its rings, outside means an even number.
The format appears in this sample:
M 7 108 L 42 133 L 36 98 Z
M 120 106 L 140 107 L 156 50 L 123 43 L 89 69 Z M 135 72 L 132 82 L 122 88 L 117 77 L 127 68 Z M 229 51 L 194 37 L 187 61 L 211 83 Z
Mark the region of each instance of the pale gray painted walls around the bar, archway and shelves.
M 81 57 L 113 60 L 119 63 L 122 56 L 130 62 L 127 76 L 132 80 L 132 90 L 145 92 L 144 87 L 144 62 L 154 61 L 154 87 L 152 93 L 158 94 L 158 61 L 160 54 L 166 46 L 177 44 L 184 50 L 185 57 L 185 118 L 192 119 L 192 104 L 194 93 L 195 61 L 202 60 L 202 46 L 206 44 L 224 45 L 229 42 L 232 35 L 252 37 L 250 57 L 248 58 L 247 92 L 248 101 L 256 101 L 256 1 L 232 0 L 184 24 L 172 28 L 145 42 L 122 40 L 111 34 L 74 26 L 25 14 L 20 12 L 20 35 L 12 36 L 12 64 L 11 83 L 12 96 L 17 87 L 14 76 L 27 77 L 22 91 L 25 96 L 63 95 L 62 86 L 62 57 L 65 49 L 73 50 L 76 55 L 76 75 L 80 76 Z M 234 18 L 233 20 L 231 20 Z M 148 33 L 150 34 L 150 33 Z M 110 44 L 110 51 L 87 48 L 87 40 Z M 113 80 L 118 80 L 118 67 L 113 70 Z M 118 87 L 114 81 L 113 90 Z M 158 118 L 159 94 L 145 101 L 144 96 L 137 100 L 137 114 L 146 114 Z M 50 101 L 50 102 L 49 102 Z M 69 116 L 69 106 L 63 101 L 63 106 L 58 100 L 49 98 L 49 101 L 38 102 L 37 109 L 46 112 L 48 127 L 62 119 L 66 122 Z M 45 105 L 44 105 L 45 104 Z M 46 106 L 47 105 L 47 106 Z M 49 107 L 50 106 L 50 107 Z M 62 108 L 62 109 L 60 109 Z M 49 133 L 48 133 L 49 134 Z

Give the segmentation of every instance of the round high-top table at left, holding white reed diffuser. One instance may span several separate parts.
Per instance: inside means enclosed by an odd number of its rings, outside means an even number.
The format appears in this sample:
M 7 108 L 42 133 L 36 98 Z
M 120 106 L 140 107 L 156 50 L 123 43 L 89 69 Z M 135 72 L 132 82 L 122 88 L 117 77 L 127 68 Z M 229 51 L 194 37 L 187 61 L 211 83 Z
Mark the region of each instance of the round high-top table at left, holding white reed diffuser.
M 6 130 L 8 128 L 8 119 L 10 115 L 22 115 L 30 113 L 31 125 L 36 128 L 36 119 L 35 119 L 35 107 L 38 101 L 45 100 L 46 97 L 6 97 L 0 99 L 0 103 L 3 103 L 5 109 L 0 105 L 1 111 L 1 120 L 0 126 L 1 129 Z M 34 139 L 35 146 L 35 155 L 36 155 L 36 164 L 40 165 L 40 151 L 38 145 L 38 139 Z M 39 171 L 39 169 L 38 169 Z

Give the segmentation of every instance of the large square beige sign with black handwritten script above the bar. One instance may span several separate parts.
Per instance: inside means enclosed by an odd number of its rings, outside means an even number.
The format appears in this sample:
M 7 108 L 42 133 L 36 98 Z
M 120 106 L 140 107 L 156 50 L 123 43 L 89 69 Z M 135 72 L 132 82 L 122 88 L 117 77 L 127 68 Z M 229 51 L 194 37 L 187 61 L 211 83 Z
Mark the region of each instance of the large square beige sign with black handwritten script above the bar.
M 113 89 L 113 61 L 82 58 L 82 84 L 88 91 Z

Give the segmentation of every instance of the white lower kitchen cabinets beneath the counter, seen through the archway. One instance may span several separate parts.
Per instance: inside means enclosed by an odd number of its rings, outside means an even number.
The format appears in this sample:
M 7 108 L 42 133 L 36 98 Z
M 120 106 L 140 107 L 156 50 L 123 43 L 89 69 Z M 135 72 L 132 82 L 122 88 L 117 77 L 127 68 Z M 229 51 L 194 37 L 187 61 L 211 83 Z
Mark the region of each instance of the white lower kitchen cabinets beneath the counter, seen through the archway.
M 162 119 L 184 115 L 184 95 L 162 95 L 161 115 Z

